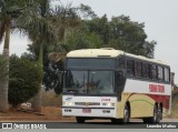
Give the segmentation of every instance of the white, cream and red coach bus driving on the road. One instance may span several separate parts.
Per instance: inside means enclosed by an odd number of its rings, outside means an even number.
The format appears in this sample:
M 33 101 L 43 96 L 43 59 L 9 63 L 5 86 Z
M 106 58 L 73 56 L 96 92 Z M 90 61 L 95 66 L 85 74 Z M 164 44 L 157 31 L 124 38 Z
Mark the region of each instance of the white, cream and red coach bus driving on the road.
M 168 64 L 111 48 L 75 50 L 67 54 L 62 115 L 78 123 L 130 118 L 159 123 L 170 113 Z

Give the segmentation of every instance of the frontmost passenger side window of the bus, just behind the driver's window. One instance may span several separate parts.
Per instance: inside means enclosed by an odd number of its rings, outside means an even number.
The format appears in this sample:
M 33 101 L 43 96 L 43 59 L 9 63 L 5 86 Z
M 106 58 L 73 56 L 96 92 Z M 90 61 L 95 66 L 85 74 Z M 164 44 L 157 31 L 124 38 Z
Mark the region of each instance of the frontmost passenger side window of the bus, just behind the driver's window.
M 127 74 L 129 77 L 135 75 L 135 61 L 134 60 L 127 60 Z

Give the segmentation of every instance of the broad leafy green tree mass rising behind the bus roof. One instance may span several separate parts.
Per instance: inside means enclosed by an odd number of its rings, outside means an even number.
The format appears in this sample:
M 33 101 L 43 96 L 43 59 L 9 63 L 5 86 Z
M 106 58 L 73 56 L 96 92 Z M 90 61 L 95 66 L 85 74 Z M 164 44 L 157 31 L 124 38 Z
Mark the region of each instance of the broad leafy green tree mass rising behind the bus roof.
M 131 21 L 127 16 L 101 18 L 85 21 L 89 32 L 102 40 L 101 47 L 111 47 L 129 53 L 154 58 L 156 41 L 147 41 L 145 24 Z M 77 34 L 76 34 L 77 35 Z

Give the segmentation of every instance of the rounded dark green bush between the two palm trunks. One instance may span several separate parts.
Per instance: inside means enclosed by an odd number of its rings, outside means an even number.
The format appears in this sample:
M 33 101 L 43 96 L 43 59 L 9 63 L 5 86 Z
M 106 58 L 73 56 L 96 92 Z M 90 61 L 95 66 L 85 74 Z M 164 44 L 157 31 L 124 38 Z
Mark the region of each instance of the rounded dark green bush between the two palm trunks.
M 40 87 L 41 74 L 37 62 L 30 61 L 27 55 L 10 57 L 9 103 L 13 106 L 34 97 Z

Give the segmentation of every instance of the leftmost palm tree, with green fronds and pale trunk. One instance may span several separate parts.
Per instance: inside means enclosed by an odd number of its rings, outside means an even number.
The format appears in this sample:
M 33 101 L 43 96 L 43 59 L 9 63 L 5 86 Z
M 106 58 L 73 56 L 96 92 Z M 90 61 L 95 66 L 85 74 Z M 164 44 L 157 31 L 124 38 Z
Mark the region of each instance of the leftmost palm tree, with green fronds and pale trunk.
M 14 28 L 20 29 L 20 31 L 24 31 L 28 21 L 32 20 L 32 18 L 38 17 L 34 11 L 38 10 L 37 4 L 39 1 L 43 0 L 0 0 L 0 43 L 4 38 L 2 54 L 7 60 L 7 72 L 9 71 L 10 33 Z M 3 101 L 3 103 L 0 103 L 0 111 L 6 112 L 9 109 L 9 78 L 7 77 L 6 79 L 1 80 L 1 83 L 0 101 Z

